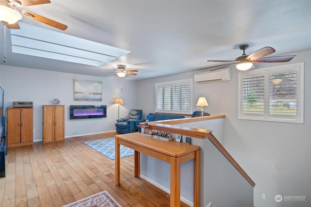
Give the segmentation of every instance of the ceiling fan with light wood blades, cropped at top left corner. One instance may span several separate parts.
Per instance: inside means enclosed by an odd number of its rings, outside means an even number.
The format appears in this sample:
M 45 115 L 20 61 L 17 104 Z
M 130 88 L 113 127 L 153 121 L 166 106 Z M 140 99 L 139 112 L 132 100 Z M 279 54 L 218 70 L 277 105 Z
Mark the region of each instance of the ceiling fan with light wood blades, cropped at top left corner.
M 50 25 L 60 30 L 66 30 L 67 25 L 46 18 L 44 16 L 37 15 L 33 12 L 26 10 L 19 11 L 16 7 L 26 7 L 38 4 L 51 3 L 50 0 L 0 0 L 0 21 L 6 25 L 9 29 L 20 29 L 18 20 L 23 16 Z

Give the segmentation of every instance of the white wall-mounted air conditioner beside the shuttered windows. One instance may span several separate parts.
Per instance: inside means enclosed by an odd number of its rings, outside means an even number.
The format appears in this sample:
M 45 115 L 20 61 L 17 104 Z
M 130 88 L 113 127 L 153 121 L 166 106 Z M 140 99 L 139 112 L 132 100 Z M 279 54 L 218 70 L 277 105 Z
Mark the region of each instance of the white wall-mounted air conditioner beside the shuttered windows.
M 210 83 L 231 80 L 231 68 L 194 74 L 194 82 Z

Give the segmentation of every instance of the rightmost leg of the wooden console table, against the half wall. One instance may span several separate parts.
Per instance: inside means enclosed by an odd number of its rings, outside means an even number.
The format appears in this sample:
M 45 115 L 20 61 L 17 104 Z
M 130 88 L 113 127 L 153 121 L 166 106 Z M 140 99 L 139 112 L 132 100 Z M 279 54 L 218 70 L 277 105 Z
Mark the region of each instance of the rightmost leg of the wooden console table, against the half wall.
M 193 207 L 200 207 L 200 150 L 194 152 Z

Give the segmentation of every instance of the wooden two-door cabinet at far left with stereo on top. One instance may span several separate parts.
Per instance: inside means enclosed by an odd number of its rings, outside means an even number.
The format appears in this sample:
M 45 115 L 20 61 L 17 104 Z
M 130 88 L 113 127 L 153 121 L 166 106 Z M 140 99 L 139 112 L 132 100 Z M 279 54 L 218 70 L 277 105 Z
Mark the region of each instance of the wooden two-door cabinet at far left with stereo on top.
M 8 147 L 33 144 L 33 108 L 8 108 Z

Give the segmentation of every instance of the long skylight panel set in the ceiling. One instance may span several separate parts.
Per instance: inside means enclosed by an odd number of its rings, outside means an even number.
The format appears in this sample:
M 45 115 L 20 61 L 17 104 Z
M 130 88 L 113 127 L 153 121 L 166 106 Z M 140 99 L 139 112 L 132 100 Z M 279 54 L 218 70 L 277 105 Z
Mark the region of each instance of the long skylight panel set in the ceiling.
M 11 30 L 12 52 L 101 66 L 130 51 L 18 22 Z

